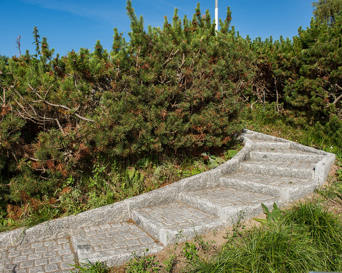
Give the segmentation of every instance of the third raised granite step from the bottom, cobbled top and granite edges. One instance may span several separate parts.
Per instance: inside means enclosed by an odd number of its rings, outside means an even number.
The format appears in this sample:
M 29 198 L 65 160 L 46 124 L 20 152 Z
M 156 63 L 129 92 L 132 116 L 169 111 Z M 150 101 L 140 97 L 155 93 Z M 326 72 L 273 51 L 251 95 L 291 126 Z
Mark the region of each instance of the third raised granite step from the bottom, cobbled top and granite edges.
M 180 199 L 200 211 L 220 217 L 225 225 L 237 222 L 240 213 L 247 218 L 262 213 L 261 203 L 271 209 L 273 203 L 278 201 L 278 198 L 264 193 L 224 186 L 184 192 L 180 194 Z

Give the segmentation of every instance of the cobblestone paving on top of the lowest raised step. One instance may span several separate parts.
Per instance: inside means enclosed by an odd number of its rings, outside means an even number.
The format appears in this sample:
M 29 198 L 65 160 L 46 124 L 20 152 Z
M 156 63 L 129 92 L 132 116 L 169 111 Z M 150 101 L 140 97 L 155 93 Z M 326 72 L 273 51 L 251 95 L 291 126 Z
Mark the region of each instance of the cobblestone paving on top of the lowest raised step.
M 84 233 L 95 252 L 153 243 L 145 231 L 129 222 L 119 222 L 84 228 Z

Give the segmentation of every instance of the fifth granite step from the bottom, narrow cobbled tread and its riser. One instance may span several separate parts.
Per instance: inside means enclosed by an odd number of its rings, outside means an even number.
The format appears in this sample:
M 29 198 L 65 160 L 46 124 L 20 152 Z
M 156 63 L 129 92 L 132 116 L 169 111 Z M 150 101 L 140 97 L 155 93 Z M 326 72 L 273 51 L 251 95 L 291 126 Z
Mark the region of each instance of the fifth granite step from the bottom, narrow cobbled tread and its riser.
M 248 160 L 240 164 L 240 171 L 314 179 L 315 163 L 291 161 Z

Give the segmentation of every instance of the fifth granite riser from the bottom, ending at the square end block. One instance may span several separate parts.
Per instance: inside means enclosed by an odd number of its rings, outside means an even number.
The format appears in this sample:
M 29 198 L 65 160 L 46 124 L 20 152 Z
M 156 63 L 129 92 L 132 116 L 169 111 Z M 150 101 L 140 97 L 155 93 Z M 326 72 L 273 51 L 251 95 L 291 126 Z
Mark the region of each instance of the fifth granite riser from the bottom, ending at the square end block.
M 278 175 L 287 177 L 297 177 L 304 179 L 314 179 L 314 171 L 311 169 L 291 169 L 282 167 L 269 167 L 256 164 L 241 163 L 240 171 L 248 173 L 260 173 L 268 175 Z

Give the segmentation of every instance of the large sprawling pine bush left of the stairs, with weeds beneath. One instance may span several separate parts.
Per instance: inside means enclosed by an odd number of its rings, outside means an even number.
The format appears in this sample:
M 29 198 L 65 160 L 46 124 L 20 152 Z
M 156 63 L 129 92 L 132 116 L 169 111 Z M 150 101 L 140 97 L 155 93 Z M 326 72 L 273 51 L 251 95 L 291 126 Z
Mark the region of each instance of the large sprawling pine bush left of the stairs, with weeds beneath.
M 35 27 L 35 55 L 0 58 L 0 172 L 14 206 L 49 196 L 59 213 L 78 213 L 142 193 L 154 186 L 137 159 L 221 147 L 242 128 L 236 86 L 249 80 L 250 59 L 228 31 L 230 13 L 216 35 L 199 5 L 192 21 L 182 25 L 176 9 L 172 23 L 147 30 L 126 8 L 130 42 L 115 28 L 110 52 L 97 40 L 92 52 L 60 57 Z M 113 160 L 122 170 L 110 170 Z M 165 183 L 207 169 L 163 168 Z

